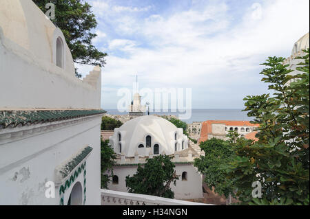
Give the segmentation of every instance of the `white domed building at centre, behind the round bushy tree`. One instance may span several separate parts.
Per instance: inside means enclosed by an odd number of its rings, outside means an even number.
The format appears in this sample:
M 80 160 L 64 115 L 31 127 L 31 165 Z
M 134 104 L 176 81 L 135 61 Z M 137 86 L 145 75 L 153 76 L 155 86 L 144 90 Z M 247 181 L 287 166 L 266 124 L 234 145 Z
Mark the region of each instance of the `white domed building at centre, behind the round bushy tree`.
M 145 163 L 147 158 L 166 154 L 172 157 L 179 179 L 176 186 L 171 185 L 176 199 L 203 197 L 202 176 L 192 164 L 199 157 L 200 150 L 189 146 L 182 128 L 154 115 L 136 117 L 120 128 L 114 129 L 110 137 L 118 159 L 113 167 L 113 178 L 109 189 L 127 192 L 125 177 L 136 173 L 138 163 Z

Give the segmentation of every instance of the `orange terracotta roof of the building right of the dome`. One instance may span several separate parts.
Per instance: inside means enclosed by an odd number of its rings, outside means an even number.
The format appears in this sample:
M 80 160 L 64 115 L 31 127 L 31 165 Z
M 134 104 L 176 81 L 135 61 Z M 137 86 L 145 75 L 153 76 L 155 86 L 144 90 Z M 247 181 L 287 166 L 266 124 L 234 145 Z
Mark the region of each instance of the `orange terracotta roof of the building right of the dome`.
M 249 121 L 207 120 L 203 122 L 201 126 L 198 143 L 200 143 L 201 141 L 206 141 L 208 139 L 208 135 L 212 132 L 212 124 L 225 124 L 225 126 L 253 126 L 253 127 L 260 126 L 259 124 L 251 124 Z

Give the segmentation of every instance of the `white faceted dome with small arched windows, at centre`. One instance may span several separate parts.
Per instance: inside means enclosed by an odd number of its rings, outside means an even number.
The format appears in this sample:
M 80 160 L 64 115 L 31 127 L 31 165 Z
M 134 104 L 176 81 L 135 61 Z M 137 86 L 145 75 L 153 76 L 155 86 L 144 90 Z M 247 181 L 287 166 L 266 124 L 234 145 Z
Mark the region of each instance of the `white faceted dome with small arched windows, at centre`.
M 148 136 L 151 138 L 150 146 L 147 146 Z M 114 135 L 110 137 L 110 144 L 117 154 L 125 154 L 125 157 L 134 157 L 135 154 L 141 157 L 156 154 L 156 145 L 159 154 L 163 152 L 174 154 L 175 151 L 187 148 L 187 136 L 183 135 L 182 128 L 176 128 L 167 119 L 145 115 L 131 119 L 120 128 L 115 128 Z

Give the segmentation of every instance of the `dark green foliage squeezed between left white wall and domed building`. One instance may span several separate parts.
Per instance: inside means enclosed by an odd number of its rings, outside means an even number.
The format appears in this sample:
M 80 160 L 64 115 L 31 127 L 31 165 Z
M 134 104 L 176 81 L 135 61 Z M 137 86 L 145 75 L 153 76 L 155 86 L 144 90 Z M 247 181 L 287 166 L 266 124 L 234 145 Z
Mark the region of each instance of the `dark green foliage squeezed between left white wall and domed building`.
M 109 140 L 101 139 L 101 188 L 106 189 L 107 183 L 113 175 L 113 165 L 115 165 L 116 154 L 109 145 Z

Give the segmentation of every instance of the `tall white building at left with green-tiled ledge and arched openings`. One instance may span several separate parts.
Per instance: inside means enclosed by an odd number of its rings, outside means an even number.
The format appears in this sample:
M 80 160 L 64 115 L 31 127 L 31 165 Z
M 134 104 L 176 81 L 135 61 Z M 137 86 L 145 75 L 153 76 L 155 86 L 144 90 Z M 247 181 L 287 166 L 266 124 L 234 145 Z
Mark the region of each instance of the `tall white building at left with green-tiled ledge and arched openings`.
M 0 76 L 0 205 L 101 205 L 100 67 L 76 78 L 37 5 L 1 0 Z

